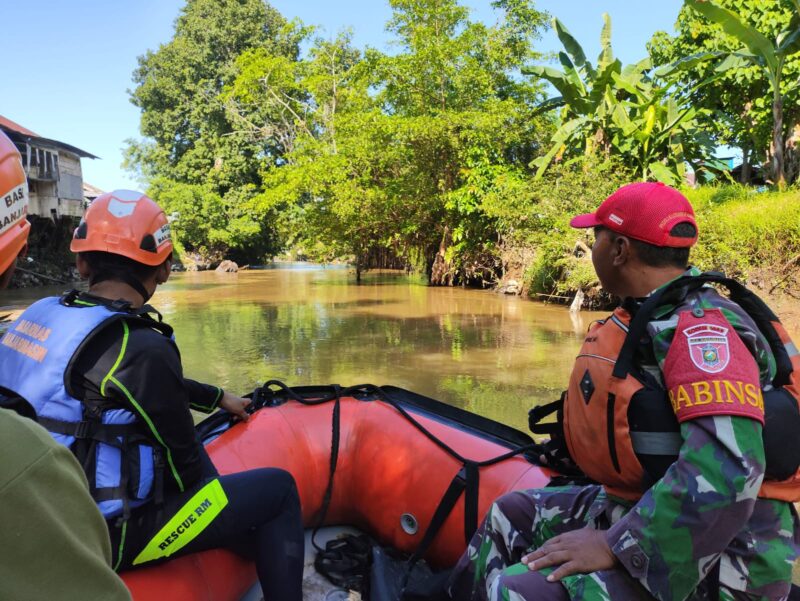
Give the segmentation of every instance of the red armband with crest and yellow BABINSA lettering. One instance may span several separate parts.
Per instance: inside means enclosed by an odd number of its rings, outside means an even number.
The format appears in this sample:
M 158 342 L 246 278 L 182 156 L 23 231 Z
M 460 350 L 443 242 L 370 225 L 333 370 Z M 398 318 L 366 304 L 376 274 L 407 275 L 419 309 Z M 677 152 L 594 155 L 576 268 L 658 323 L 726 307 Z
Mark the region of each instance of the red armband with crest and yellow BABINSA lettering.
M 679 422 L 740 415 L 764 423 L 758 365 L 719 309 L 680 314 L 664 384 Z

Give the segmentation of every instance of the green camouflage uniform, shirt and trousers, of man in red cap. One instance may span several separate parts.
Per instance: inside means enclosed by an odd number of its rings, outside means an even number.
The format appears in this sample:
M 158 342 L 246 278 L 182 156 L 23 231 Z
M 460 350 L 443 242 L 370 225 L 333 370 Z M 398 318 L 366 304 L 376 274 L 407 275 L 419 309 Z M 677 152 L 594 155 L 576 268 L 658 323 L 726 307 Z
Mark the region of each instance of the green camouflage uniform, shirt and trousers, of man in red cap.
M 762 387 L 769 387 L 775 374 L 769 344 L 752 319 L 712 287 L 655 311 L 648 325 L 651 344 L 643 345 L 639 366 L 669 388 L 678 374 L 664 370 L 679 316 L 696 309 L 721 311 L 755 358 Z M 753 369 L 748 357 L 731 360 Z M 792 504 L 758 498 L 765 469 L 761 432 L 759 421 L 738 415 L 683 421 L 678 459 L 635 503 L 606 494 L 602 486 L 501 497 L 454 570 L 453 598 L 784 599 L 800 529 Z M 544 581 L 551 569 L 531 572 L 518 563 L 549 538 L 587 526 L 607 532 L 620 566 L 568 576 L 557 586 Z

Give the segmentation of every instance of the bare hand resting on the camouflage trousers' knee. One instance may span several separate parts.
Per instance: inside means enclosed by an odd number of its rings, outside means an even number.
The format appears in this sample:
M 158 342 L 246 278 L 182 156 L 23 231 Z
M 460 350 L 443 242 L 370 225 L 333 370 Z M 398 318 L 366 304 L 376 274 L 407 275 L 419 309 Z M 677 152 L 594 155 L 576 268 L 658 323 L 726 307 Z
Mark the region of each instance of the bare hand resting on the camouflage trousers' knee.
M 613 568 L 618 560 L 606 542 L 605 533 L 581 528 L 551 538 L 522 558 L 531 570 L 558 565 L 547 577 L 550 582 L 571 574 L 587 574 Z

